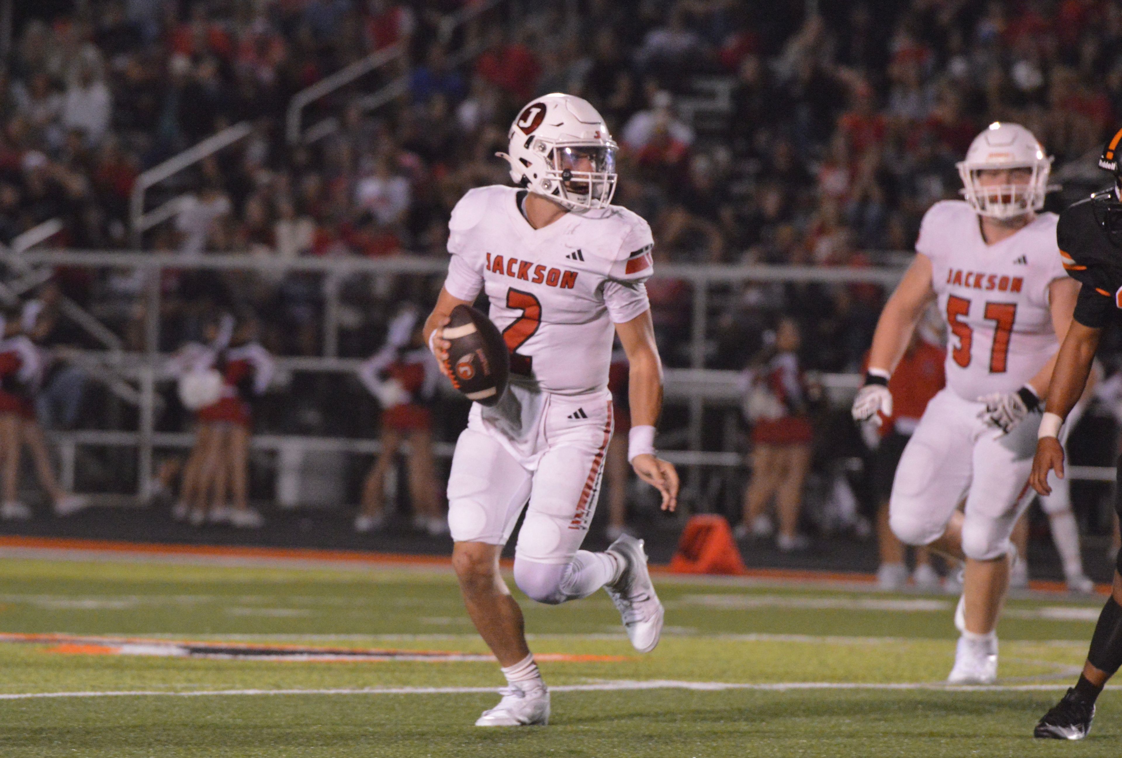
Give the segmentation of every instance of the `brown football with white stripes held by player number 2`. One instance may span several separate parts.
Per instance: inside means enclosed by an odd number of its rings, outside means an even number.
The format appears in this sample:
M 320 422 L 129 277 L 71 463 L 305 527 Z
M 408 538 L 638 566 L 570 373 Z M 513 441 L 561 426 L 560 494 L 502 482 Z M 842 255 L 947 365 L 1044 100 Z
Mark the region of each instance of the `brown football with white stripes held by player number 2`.
M 443 336 L 451 343 L 445 368 L 452 386 L 469 400 L 498 403 L 511 376 L 511 355 L 498 327 L 470 305 L 457 305 Z

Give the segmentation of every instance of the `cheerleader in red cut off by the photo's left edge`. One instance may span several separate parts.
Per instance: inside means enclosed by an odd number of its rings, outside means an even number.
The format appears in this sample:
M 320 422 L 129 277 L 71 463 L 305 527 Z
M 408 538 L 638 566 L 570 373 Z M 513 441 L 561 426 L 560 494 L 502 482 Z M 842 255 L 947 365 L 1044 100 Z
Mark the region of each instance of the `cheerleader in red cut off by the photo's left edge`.
M 33 397 L 42 379 L 39 351 L 22 333 L 19 314 L 0 317 L 0 472 L 3 474 L 0 518 L 28 519 L 31 509 L 19 501 L 19 455 L 22 425 L 35 419 Z

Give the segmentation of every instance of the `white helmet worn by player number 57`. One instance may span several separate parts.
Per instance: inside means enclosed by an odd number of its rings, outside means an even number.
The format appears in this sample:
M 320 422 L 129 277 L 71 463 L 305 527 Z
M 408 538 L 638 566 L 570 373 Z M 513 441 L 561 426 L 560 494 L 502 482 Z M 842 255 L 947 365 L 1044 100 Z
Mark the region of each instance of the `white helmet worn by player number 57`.
M 963 196 L 975 213 L 1012 219 L 1045 206 L 1051 161 L 1031 131 L 1019 123 L 994 121 L 971 142 L 966 159 L 955 165 L 963 178 Z M 982 186 L 978 172 L 1000 168 L 1030 169 L 1028 184 Z

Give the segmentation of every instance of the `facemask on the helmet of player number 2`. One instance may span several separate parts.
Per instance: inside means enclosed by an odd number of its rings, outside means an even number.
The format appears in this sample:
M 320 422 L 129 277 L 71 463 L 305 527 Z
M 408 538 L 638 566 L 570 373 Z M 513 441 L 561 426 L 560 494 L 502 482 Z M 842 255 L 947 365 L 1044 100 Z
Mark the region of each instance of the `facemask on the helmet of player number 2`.
M 548 148 L 544 141 L 539 141 Z M 534 146 L 537 149 L 537 145 Z M 545 155 L 543 193 L 572 210 L 607 207 L 616 193 L 616 144 L 558 142 Z

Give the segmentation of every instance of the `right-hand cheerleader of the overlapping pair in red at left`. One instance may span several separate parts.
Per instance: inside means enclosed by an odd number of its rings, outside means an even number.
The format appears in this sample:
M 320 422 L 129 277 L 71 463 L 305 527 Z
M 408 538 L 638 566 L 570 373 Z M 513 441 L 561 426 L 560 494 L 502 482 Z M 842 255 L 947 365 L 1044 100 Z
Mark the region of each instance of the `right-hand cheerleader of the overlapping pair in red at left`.
M 268 388 L 275 364 L 269 352 L 257 342 L 256 320 L 243 321 L 234 330 L 230 346 L 215 351 L 213 368 L 222 377 L 219 398 L 195 414 L 200 426 L 209 429 L 197 475 L 201 482 L 211 482 L 212 488 L 201 488 L 196 502 L 204 506 L 206 490 L 213 489 L 211 521 L 228 520 L 239 528 L 257 529 L 265 524 L 265 519 L 249 507 L 249 434 L 252 420 L 249 400 Z M 233 508 L 224 506 L 228 489 Z M 195 512 L 199 512 L 199 506 Z

